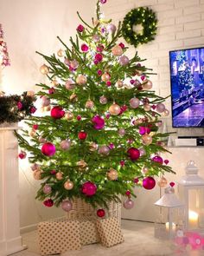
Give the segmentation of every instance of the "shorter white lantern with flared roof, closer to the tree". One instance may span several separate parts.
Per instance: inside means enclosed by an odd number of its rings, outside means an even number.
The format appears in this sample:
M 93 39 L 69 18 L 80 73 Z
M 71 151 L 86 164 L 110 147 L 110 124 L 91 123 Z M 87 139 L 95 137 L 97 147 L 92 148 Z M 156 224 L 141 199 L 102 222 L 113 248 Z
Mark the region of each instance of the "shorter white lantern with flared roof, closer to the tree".
M 163 197 L 155 203 L 157 220 L 155 222 L 155 237 L 173 239 L 175 233 L 183 229 L 184 205 L 175 196 L 174 187 L 165 188 Z

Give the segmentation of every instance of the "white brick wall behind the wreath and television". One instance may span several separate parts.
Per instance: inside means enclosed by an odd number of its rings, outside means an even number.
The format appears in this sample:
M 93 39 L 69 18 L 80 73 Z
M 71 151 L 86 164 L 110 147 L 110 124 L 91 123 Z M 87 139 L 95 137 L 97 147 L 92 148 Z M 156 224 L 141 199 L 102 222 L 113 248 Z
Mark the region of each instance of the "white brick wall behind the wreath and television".
M 127 12 L 138 6 L 149 6 L 156 11 L 156 39 L 137 47 L 137 51 L 141 58 L 147 58 L 145 65 L 157 72 L 151 77 L 156 93 L 167 96 L 170 94 L 169 50 L 204 45 L 204 0 L 108 0 L 103 9 L 105 16 L 111 17 L 114 23 L 123 21 Z M 133 55 L 135 50 L 131 47 L 130 53 Z M 170 99 L 167 104 L 170 109 Z M 171 129 L 171 117 L 166 121 Z M 182 129 L 179 129 L 179 134 L 182 134 Z M 198 134 L 201 135 L 201 129 Z

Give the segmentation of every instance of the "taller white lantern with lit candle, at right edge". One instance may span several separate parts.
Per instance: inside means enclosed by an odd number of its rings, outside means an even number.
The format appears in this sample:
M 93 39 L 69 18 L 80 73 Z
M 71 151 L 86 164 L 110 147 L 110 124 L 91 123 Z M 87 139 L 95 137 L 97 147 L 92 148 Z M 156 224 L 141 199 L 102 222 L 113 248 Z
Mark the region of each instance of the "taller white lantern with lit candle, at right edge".
M 185 228 L 204 231 L 204 180 L 194 161 L 188 161 L 186 175 L 179 181 L 178 193 L 185 204 Z

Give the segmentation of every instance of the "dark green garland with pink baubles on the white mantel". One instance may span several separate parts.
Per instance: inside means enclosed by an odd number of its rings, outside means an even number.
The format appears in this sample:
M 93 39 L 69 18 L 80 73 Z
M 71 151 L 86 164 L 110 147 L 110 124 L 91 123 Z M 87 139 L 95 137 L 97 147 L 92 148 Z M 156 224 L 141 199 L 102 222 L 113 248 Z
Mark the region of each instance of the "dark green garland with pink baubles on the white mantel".
M 24 92 L 22 95 L 0 94 L 0 124 L 22 121 L 35 113 L 35 96 Z

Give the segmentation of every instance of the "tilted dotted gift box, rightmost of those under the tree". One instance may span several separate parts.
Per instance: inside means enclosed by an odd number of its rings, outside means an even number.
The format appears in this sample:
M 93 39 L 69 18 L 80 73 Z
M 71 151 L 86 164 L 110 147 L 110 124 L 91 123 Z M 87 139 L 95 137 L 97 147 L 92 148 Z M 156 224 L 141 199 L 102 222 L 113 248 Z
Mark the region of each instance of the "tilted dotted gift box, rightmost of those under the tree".
M 97 220 L 97 228 L 103 246 L 111 247 L 124 242 L 124 237 L 116 218 Z

